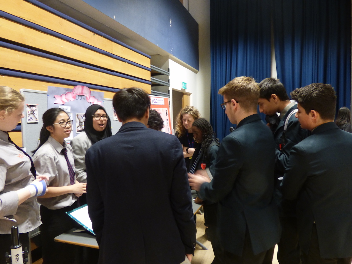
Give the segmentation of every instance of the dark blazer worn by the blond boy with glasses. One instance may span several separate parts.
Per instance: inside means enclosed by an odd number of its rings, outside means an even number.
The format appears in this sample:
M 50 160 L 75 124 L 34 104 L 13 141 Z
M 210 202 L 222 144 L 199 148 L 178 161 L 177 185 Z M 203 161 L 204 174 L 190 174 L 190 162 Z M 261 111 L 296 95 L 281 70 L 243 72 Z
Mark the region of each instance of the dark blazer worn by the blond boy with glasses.
M 250 115 L 219 147 L 213 180 L 200 197 L 219 201 L 218 234 L 224 250 L 242 255 L 246 226 L 254 254 L 280 240 L 274 192 L 275 143 L 258 114 Z

